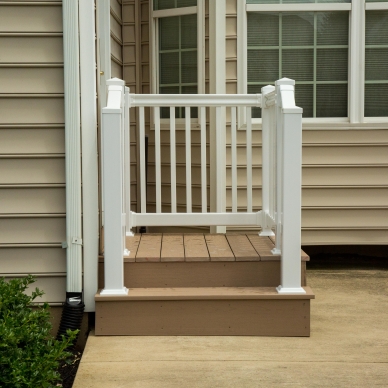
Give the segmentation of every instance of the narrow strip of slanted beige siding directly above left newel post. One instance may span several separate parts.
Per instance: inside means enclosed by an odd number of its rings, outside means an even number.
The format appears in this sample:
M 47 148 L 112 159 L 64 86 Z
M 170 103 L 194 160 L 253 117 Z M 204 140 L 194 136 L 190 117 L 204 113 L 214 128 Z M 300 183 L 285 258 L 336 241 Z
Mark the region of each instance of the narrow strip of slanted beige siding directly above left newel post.
M 111 76 L 123 79 L 123 37 L 121 0 L 110 0 Z

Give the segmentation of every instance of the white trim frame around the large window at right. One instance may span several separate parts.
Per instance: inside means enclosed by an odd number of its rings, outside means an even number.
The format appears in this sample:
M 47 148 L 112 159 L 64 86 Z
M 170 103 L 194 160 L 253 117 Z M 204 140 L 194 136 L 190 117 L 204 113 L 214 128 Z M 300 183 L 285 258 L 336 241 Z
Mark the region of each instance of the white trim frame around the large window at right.
M 237 2 L 237 93 L 247 93 L 247 13 L 248 12 L 317 12 L 349 11 L 349 78 L 348 117 L 305 118 L 303 129 L 388 129 L 388 117 L 364 117 L 364 64 L 365 64 L 365 12 L 388 10 L 388 2 L 365 3 L 300 3 L 300 4 L 246 4 Z M 239 114 L 239 129 L 244 129 L 244 113 Z M 253 119 L 254 128 L 261 129 L 261 119 Z M 330 124 L 325 128 L 324 124 Z M 381 124 L 381 125 L 379 125 Z

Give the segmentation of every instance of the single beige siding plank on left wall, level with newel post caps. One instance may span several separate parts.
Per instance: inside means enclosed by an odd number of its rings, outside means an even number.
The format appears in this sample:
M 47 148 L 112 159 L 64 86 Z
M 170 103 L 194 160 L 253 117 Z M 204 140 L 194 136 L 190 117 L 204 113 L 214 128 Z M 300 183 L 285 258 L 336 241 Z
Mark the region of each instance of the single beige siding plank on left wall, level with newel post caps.
M 63 93 L 63 68 L 4 67 L 0 93 Z

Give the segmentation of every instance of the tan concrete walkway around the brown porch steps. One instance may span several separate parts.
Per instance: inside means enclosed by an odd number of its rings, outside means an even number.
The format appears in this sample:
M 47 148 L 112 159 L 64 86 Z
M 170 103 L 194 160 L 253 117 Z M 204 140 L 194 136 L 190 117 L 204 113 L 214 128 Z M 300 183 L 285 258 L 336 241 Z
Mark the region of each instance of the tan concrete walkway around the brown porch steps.
M 90 335 L 73 387 L 388 387 L 388 271 L 307 280 L 310 338 Z

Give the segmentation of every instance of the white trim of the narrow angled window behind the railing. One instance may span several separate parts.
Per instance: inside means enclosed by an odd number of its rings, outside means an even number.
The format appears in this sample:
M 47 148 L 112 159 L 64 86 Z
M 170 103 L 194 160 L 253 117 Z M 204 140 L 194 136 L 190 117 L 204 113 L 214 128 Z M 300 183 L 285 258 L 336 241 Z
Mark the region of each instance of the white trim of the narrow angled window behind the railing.
M 150 2 L 150 90 L 152 94 L 159 93 L 159 19 L 162 17 L 184 16 L 197 14 L 197 82 L 198 94 L 205 93 L 205 0 L 197 0 L 197 6 L 182 7 L 163 10 L 153 10 L 152 2 Z M 160 120 L 160 129 L 169 130 L 169 119 Z M 198 119 L 191 119 L 192 129 L 199 129 Z M 154 129 L 151 123 L 151 129 Z M 176 129 L 185 129 L 185 119 L 176 119 Z

